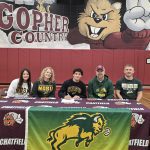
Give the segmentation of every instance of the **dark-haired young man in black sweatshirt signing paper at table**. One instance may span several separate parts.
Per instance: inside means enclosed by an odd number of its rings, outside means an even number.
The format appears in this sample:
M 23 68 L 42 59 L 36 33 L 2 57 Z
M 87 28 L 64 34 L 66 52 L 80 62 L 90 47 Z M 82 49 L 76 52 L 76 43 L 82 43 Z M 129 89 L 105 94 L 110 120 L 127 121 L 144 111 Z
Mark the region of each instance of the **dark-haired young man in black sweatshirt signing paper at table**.
M 60 98 L 79 99 L 86 98 L 86 85 L 80 81 L 83 71 L 80 68 L 73 70 L 73 78 L 66 80 L 58 92 Z

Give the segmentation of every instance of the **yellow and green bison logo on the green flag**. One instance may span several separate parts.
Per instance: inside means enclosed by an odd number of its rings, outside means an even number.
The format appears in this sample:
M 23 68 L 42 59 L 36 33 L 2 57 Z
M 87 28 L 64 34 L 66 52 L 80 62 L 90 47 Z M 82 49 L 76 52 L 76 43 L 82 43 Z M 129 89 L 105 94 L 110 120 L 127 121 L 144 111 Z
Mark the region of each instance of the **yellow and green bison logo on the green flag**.
M 49 131 L 47 139 L 52 150 L 60 150 L 60 146 L 67 140 L 76 139 L 75 146 L 78 147 L 82 141 L 88 147 L 94 136 L 103 132 L 106 125 L 104 116 L 100 113 L 87 114 L 79 113 L 72 115 L 62 126 Z

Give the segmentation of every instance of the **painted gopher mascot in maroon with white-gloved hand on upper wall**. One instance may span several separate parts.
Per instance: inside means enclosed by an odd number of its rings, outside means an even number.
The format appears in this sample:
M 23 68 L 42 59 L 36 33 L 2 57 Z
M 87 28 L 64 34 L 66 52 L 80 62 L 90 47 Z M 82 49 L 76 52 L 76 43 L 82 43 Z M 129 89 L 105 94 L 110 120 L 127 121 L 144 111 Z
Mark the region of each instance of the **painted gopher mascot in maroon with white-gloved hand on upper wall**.
M 91 49 L 146 49 L 150 42 L 150 1 L 126 0 L 126 7 L 127 29 L 120 32 L 121 3 L 89 0 L 78 18 L 78 28 L 70 30 L 68 41 L 88 43 Z

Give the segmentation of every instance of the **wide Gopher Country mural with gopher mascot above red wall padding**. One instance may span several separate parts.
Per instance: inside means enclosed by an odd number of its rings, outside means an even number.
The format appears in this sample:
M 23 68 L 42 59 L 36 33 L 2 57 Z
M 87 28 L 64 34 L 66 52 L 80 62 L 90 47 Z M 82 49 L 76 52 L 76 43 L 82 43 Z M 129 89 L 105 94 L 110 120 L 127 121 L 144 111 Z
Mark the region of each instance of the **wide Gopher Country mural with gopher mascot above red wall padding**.
M 149 0 L 0 0 L 0 47 L 150 50 L 149 8 Z

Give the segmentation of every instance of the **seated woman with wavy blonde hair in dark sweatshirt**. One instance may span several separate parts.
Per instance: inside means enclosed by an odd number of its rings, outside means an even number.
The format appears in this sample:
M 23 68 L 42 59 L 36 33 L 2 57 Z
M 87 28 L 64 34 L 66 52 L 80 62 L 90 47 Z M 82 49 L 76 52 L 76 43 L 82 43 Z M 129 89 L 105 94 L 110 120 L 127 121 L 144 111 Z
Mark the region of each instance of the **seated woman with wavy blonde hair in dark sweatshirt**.
M 33 84 L 33 97 L 55 97 L 55 78 L 54 70 L 51 67 L 46 67 L 42 70 L 39 80 Z

